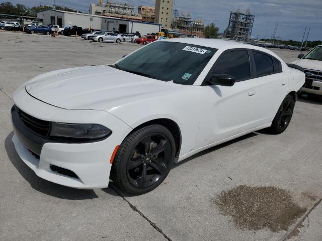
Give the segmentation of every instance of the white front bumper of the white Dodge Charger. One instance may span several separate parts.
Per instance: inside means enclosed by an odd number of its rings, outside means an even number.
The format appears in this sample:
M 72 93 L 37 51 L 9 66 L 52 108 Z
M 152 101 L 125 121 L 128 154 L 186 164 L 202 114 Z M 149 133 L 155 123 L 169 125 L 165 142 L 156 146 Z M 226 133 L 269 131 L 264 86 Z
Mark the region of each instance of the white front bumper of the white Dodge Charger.
M 13 97 L 19 109 L 44 121 L 96 123 L 111 129 L 112 134 L 98 142 L 75 144 L 47 140 L 34 145 L 35 140 L 28 133 L 28 128 L 24 130 L 17 127 L 13 119 L 15 135 L 12 141 L 16 151 L 37 176 L 73 188 L 95 189 L 108 186 L 112 166 L 110 158 L 115 147 L 132 130 L 129 126 L 105 111 L 62 109 L 46 104 L 30 96 L 24 87 L 18 88 Z M 74 175 L 68 174 L 68 171 Z

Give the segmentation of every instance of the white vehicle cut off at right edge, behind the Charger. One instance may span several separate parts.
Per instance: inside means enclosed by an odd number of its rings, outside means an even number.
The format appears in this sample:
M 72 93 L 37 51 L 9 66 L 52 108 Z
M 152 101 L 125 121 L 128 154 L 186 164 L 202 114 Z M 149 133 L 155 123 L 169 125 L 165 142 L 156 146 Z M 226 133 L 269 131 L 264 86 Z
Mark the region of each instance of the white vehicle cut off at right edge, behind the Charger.
M 292 62 L 304 68 L 305 84 L 301 92 L 322 95 L 322 45 L 316 46 L 307 54 L 299 54 Z

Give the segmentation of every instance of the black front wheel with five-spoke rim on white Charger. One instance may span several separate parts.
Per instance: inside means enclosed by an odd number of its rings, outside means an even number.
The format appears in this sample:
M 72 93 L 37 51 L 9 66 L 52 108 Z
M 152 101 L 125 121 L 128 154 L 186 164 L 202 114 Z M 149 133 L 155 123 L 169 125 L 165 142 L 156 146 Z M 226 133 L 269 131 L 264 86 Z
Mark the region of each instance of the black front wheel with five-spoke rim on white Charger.
M 132 195 L 141 195 L 160 185 L 168 176 L 175 158 L 175 140 L 160 125 L 150 125 L 130 134 L 116 152 L 112 178 Z

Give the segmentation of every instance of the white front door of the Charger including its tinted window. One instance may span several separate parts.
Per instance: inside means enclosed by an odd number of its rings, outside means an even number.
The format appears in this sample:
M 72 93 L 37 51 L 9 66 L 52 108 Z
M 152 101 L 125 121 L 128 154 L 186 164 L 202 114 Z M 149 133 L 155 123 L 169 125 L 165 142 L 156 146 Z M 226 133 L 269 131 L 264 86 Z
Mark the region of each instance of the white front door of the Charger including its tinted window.
M 205 103 L 201 107 L 204 116 L 200 119 L 196 148 L 232 137 L 249 130 L 250 91 L 254 87 L 251 78 L 250 58 L 247 50 L 223 52 L 206 78 L 213 74 L 230 74 L 235 77 L 233 86 L 206 85 L 202 96 Z

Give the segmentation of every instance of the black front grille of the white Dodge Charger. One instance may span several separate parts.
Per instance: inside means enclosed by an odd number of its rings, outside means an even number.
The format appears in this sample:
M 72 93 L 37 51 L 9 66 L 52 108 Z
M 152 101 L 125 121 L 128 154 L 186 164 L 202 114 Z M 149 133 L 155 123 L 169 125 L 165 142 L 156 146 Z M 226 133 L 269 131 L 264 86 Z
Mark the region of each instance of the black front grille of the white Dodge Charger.
M 24 111 L 19 109 L 17 106 L 15 106 L 15 108 L 19 114 L 19 118 L 21 119 L 21 121 L 25 124 L 25 126 L 28 129 L 30 129 L 35 134 L 37 134 L 41 137 L 48 136 L 50 122 L 35 118 L 35 117 L 25 113 Z

